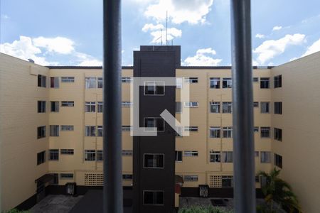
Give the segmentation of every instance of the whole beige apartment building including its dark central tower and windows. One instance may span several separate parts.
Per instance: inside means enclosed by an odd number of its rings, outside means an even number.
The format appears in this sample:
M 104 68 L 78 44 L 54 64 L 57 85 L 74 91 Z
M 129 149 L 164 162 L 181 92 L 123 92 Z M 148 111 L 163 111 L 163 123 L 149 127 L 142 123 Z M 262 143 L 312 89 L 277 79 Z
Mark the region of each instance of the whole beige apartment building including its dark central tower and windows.
M 183 195 L 198 195 L 199 185 L 212 196 L 233 193 L 231 69 L 183 67 L 179 46 L 161 47 L 142 46 L 134 66 L 122 67 L 123 185 L 133 186 L 139 212 L 174 207 L 175 175 Z M 314 53 L 253 68 L 255 170 L 281 168 L 304 212 L 320 211 L 319 65 Z M 150 90 L 163 96 L 140 91 L 140 125 L 163 131 L 154 138 L 130 136 L 133 77 L 177 77 L 190 87 L 188 102 L 179 86 Z M 43 67 L 0 54 L 2 209 L 41 200 L 49 185 L 61 193 L 67 182 L 78 190 L 103 185 L 102 87 L 102 67 Z M 163 109 L 178 120 L 188 109 L 190 136 L 176 135 L 161 120 Z

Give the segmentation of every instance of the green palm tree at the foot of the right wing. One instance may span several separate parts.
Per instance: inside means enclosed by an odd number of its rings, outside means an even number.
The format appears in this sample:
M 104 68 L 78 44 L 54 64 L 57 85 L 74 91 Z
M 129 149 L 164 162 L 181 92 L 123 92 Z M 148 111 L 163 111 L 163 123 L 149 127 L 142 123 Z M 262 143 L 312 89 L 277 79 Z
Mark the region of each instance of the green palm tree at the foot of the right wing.
M 301 207 L 297 196 L 292 192 L 292 187 L 278 177 L 280 171 L 274 168 L 270 173 L 260 171 L 257 174 L 265 178 L 265 185 L 262 185 L 261 190 L 265 195 L 265 202 L 270 207 L 270 212 L 274 212 L 274 202 L 290 213 L 301 212 Z

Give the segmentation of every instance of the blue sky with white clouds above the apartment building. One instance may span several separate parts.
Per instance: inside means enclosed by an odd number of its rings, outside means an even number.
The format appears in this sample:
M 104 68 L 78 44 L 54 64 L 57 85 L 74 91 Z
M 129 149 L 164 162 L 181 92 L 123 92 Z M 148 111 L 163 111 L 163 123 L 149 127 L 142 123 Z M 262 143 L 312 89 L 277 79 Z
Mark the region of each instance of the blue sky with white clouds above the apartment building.
M 230 1 L 123 0 L 122 65 L 139 45 L 181 45 L 183 65 L 230 65 Z M 0 51 L 41 65 L 101 65 L 102 0 L 1 0 Z M 252 0 L 254 65 L 320 50 L 319 0 Z

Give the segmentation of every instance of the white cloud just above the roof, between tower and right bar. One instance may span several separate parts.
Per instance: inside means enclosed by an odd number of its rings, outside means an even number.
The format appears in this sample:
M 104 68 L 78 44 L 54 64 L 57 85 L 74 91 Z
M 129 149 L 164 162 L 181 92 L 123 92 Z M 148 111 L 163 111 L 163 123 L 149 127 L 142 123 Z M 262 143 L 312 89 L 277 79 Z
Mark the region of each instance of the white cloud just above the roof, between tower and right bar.
M 215 50 L 211 48 L 199 49 L 196 55 L 188 57 L 183 61 L 183 65 L 186 66 L 216 66 L 222 59 L 212 58 L 211 55 L 215 55 Z

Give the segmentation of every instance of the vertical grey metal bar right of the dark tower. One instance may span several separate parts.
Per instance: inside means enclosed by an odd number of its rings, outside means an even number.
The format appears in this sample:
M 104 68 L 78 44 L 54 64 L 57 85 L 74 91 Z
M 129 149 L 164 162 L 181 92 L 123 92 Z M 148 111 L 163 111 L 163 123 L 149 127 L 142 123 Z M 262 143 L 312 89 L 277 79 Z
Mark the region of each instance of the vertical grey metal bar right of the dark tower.
M 231 0 L 235 212 L 255 212 L 250 0 Z

